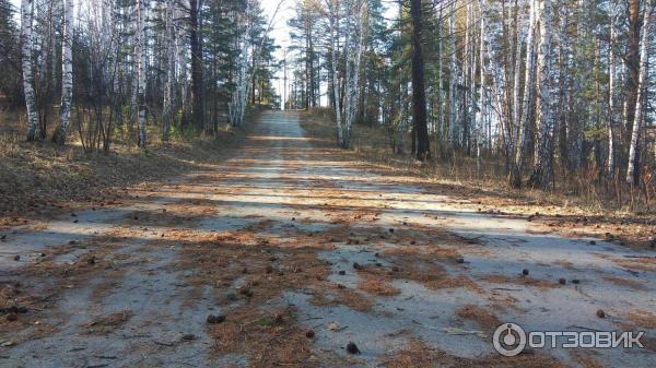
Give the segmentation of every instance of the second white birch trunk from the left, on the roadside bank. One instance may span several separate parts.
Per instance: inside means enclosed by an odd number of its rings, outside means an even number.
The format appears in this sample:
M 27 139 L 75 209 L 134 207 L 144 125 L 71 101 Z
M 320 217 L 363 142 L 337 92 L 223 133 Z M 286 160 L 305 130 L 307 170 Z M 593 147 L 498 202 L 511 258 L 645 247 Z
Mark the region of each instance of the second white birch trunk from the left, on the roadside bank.
M 73 2 L 65 0 L 63 37 L 61 39 L 61 122 L 52 135 L 59 145 L 66 144 L 71 120 L 71 100 L 73 98 Z

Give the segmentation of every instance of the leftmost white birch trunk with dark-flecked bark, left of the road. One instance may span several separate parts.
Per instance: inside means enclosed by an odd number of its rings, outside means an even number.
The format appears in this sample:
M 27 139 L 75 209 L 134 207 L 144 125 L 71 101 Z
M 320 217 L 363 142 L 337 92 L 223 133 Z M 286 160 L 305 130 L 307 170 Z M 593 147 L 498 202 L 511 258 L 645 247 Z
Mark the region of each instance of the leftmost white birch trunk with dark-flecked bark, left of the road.
M 32 64 L 32 29 L 33 29 L 34 1 L 21 1 L 21 43 L 23 92 L 25 94 L 25 106 L 27 108 L 27 141 L 34 141 L 39 136 L 39 119 L 36 108 L 36 94 L 34 92 L 34 70 Z

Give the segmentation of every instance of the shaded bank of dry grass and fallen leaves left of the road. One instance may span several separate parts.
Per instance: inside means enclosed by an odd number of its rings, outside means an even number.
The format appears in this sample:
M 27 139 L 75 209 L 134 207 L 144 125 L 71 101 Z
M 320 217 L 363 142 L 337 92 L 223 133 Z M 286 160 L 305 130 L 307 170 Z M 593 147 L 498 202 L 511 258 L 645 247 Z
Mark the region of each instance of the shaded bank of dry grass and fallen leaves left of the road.
M 0 115 L 0 228 L 54 215 L 83 203 L 110 203 L 127 187 L 160 180 L 224 161 L 245 136 L 224 129 L 216 136 L 152 141 L 147 150 L 117 136 L 109 154 L 85 153 L 73 134 L 65 147 L 28 143 L 24 123 Z

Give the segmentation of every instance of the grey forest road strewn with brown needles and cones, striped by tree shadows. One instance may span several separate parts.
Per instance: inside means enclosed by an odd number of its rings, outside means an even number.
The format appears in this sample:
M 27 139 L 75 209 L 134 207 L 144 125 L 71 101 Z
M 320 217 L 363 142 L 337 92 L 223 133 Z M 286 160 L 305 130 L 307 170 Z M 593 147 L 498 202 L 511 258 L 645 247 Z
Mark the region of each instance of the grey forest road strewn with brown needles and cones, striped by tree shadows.
M 479 213 L 298 119 L 263 112 L 221 165 L 7 232 L 0 301 L 23 308 L 3 310 L 0 366 L 656 366 L 653 256 Z M 651 347 L 502 359 L 511 321 Z

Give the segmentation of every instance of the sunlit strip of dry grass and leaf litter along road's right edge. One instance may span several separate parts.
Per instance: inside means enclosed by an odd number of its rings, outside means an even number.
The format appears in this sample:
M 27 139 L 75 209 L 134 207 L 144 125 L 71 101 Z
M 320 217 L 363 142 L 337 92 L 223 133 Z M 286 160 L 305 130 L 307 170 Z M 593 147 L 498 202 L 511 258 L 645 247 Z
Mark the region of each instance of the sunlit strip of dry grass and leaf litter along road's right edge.
M 326 110 L 302 112 L 301 124 L 316 144 L 335 147 L 335 126 Z M 352 159 L 364 161 L 380 169 L 391 169 L 421 180 L 429 191 L 448 194 L 464 207 L 495 215 L 522 216 L 541 223 L 546 232 L 565 236 L 594 236 L 632 248 L 656 248 L 656 215 L 635 213 L 625 207 L 606 205 L 591 192 L 515 190 L 507 186 L 503 167 L 485 162 L 476 170 L 476 162 L 459 157 L 456 163 L 434 161 L 421 164 L 410 155 L 390 154 L 385 132 L 356 126 L 353 149 L 343 151 Z M 407 144 L 409 151 L 410 144 Z

